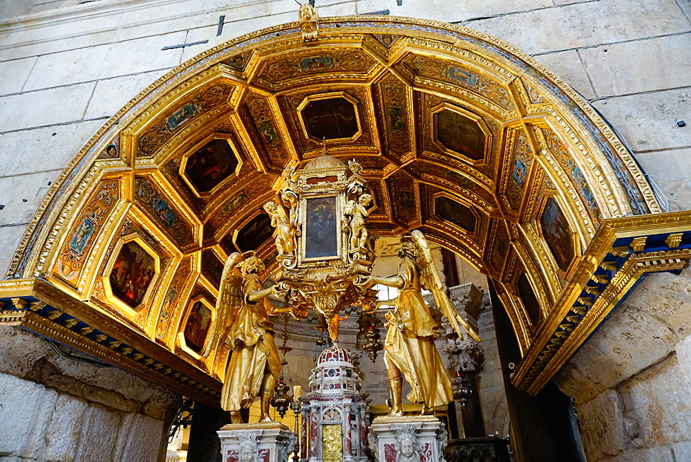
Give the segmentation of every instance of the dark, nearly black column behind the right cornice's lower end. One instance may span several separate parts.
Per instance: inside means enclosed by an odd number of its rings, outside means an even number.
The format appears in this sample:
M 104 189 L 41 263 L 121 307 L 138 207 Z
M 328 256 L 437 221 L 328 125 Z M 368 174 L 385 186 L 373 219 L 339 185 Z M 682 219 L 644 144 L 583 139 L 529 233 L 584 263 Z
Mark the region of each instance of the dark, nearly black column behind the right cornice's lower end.
M 552 382 L 535 397 L 511 384 L 509 362 L 518 364 L 521 359 L 518 340 L 491 280 L 489 289 L 516 460 L 585 462 L 571 398 Z

